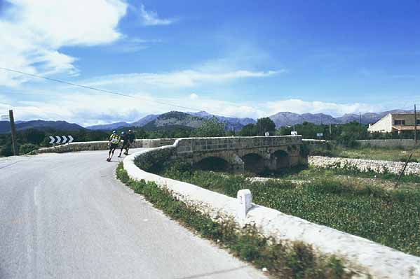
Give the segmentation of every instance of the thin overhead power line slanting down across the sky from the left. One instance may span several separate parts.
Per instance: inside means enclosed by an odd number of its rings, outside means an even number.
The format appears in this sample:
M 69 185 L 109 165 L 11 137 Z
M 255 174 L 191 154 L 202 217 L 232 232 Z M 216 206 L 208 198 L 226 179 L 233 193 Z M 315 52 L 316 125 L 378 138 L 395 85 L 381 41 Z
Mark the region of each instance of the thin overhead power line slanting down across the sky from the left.
M 25 73 L 23 71 L 8 69 L 8 68 L 4 68 L 4 67 L 1 67 L 1 66 L 0 66 L 0 69 L 2 69 L 4 71 L 11 71 L 13 73 L 20 73 L 20 74 L 25 75 L 25 76 L 32 76 L 34 78 L 42 78 L 44 80 L 55 81 L 56 83 L 63 83 L 63 84 L 66 84 L 66 85 L 72 85 L 72 86 L 76 86 L 76 87 L 82 87 L 82 88 L 85 88 L 85 89 L 88 89 L 88 90 L 95 90 L 95 91 L 99 91 L 99 92 L 104 92 L 104 93 L 107 93 L 107 94 L 114 94 L 114 95 L 118 95 L 118 96 L 125 96 L 125 97 L 133 98 L 133 99 L 143 99 L 145 101 L 151 101 L 151 102 L 159 103 L 159 104 L 165 105 L 165 106 L 173 106 L 175 108 L 184 108 L 184 109 L 187 109 L 187 110 L 198 110 L 198 111 L 201 111 L 202 110 L 202 109 L 198 109 L 198 108 L 189 108 L 187 106 L 179 106 L 179 105 L 177 105 L 175 103 L 168 103 L 168 102 L 165 102 L 165 101 L 156 101 L 154 99 L 147 99 L 147 98 L 142 98 L 142 97 L 139 97 L 139 96 L 131 96 L 131 95 L 123 94 L 123 93 L 120 93 L 120 92 L 114 92 L 114 91 L 109 91 L 109 90 L 102 90 L 102 89 L 97 88 L 97 87 L 92 87 L 92 86 L 87 86 L 87 85 L 79 85 L 78 83 L 69 83 L 69 82 L 67 82 L 65 80 L 58 80 L 57 78 L 47 78 L 45 76 L 39 76 L 39 75 L 35 75 L 33 73 Z M 211 113 L 210 112 L 210 114 L 212 114 L 212 115 L 218 115 L 218 116 L 224 116 L 224 117 L 236 117 L 236 116 L 233 116 L 233 115 L 223 115 L 223 114 L 220 114 L 220 113 L 217 113 L 216 114 L 216 113 Z

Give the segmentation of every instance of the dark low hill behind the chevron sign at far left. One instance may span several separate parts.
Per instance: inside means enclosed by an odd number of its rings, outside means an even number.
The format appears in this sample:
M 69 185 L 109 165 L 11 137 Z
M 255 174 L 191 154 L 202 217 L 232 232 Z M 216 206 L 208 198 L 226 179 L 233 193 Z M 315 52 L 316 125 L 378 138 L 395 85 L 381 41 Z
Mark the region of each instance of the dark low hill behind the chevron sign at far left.
M 79 124 L 69 123 L 65 121 L 44 121 L 44 120 L 31 120 L 25 122 L 16 122 L 15 129 L 17 131 L 22 131 L 26 129 L 57 129 L 57 130 L 66 130 L 66 131 L 76 131 L 84 130 L 85 128 L 81 127 Z M 1 121 L 0 122 L 0 133 L 8 133 L 11 131 L 10 122 Z

